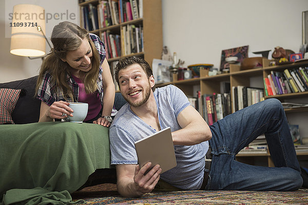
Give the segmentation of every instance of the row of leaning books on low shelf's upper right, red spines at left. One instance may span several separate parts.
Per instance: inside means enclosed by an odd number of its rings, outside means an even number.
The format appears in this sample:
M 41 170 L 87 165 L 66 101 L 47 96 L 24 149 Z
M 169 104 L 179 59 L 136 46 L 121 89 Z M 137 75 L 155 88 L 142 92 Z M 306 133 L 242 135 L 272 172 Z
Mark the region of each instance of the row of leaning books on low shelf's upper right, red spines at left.
M 265 95 L 280 95 L 308 91 L 308 68 L 271 71 L 264 78 Z

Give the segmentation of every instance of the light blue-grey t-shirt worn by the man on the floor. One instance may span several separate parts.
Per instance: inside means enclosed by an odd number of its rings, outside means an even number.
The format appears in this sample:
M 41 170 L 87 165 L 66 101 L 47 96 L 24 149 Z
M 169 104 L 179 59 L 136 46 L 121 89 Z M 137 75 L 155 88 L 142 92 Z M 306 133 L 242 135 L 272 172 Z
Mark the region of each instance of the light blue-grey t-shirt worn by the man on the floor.
M 157 88 L 153 94 L 161 129 L 170 127 L 171 132 L 180 130 L 177 117 L 190 105 L 186 95 L 172 85 Z M 115 115 L 109 129 L 111 164 L 138 164 L 134 142 L 155 132 L 156 130 L 131 111 L 128 104 L 124 105 Z M 161 174 L 161 179 L 180 189 L 200 189 L 208 141 L 193 146 L 176 145 L 174 148 L 177 167 Z

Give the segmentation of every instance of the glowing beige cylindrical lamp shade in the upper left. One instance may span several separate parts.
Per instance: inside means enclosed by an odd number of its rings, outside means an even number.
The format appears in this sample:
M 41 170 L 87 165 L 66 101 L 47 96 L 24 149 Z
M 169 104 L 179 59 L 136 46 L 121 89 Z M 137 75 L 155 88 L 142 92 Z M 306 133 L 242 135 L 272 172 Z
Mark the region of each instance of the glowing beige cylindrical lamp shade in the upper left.
M 10 53 L 21 56 L 43 56 L 46 51 L 45 9 L 31 4 L 18 4 L 13 8 Z

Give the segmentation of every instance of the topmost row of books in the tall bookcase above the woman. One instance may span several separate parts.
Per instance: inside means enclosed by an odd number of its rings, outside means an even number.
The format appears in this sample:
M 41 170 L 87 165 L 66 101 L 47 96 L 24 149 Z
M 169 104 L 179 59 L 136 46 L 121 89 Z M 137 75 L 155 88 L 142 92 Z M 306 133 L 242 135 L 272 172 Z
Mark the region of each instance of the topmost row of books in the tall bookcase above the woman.
M 108 0 L 81 6 L 82 27 L 88 31 L 143 17 L 143 0 Z

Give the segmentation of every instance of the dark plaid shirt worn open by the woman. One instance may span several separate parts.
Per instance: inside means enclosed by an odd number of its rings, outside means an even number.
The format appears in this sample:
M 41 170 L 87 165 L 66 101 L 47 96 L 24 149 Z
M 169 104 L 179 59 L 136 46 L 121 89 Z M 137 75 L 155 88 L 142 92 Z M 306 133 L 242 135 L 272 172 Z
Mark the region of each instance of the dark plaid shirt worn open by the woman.
M 106 56 L 106 51 L 105 51 L 105 45 L 103 42 L 101 42 L 99 36 L 89 33 L 89 36 L 92 40 L 92 42 L 95 45 L 95 48 L 98 50 L 101 58 L 101 63 L 100 63 L 100 73 L 99 77 L 97 79 L 97 85 L 98 85 L 98 92 L 100 93 L 100 99 L 101 103 L 103 105 L 103 83 L 102 83 L 102 64 Z M 78 84 L 74 81 L 72 77 L 70 77 L 67 74 L 67 83 L 70 88 L 73 90 L 73 96 L 74 99 L 64 99 L 64 93 L 62 90 L 59 90 L 58 92 L 56 91 L 55 84 L 52 83 L 52 76 L 47 72 L 45 73 L 43 77 L 43 81 L 41 83 L 40 88 L 37 91 L 37 98 L 44 101 L 47 105 L 51 106 L 54 101 L 68 101 L 68 102 L 73 102 L 73 101 L 78 101 L 78 96 L 79 96 L 79 86 Z

